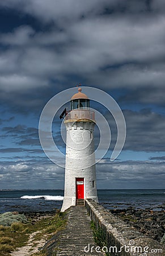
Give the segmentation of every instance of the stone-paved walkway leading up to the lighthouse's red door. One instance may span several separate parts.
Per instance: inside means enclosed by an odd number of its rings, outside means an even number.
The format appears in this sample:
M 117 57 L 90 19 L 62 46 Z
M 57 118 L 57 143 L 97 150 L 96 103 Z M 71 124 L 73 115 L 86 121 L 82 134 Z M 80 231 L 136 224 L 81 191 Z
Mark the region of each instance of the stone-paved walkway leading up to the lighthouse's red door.
M 97 245 L 94 242 L 90 222 L 91 219 L 84 206 L 71 207 L 67 219 L 67 226 L 64 229 L 64 232 L 62 232 L 56 255 L 105 255 L 101 252 L 97 253 L 97 249 L 95 250 Z M 92 246 L 94 246 L 93 249 L 91 249 Z M 84 251 L 84 247 L 86 247 L 86 251 Z

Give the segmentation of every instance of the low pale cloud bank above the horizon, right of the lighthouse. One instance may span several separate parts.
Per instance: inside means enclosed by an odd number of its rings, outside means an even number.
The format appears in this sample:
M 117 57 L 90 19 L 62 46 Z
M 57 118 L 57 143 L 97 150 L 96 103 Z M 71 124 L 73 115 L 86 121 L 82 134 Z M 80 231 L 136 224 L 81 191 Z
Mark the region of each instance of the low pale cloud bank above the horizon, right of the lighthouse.
M 104 162 L 104 161 L 103 161 Z M 109 161 L 97 165 L 99 184 L 109 188 L 163 188 L 165 163 L 153 161 Z

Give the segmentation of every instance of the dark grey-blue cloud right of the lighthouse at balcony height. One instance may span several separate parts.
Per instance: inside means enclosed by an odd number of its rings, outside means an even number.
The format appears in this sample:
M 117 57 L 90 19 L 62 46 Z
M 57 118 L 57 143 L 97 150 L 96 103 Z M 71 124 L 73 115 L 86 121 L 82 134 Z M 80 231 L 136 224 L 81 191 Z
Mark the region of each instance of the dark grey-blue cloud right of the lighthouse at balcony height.
M 131 151 L 165 151 L 165 116 L 154 112 L 151 109 L 142 109 L 139 112 L 133 110 L 122 111 L 126 122 L 126 140 L 123 150 Z M 111 129 L 111 146 L 115 148 L 117 140 L 117 127 L 115 119 L 109 113 L 104 114 Z M 99 120 L 97 120 L 99 123 Z M 103 136 L 107 136 L 102 131 Z M 107 138 L 109 139 L 109 138 Z M 99 130 L 96 129 L 95 144 L 100 141 Z

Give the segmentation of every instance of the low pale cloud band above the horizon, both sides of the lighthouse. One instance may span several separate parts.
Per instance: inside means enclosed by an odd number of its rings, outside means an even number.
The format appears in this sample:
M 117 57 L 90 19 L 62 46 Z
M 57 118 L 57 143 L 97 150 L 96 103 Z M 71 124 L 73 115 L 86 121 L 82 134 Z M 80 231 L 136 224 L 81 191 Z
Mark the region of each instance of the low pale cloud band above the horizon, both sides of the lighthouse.
M 96 168 L 98 188 L 163 188 L 164 185 L 164 162 L 109 163 L 108 160 Z M 54 164 L 1 163 L 0 172 L 2 188 L 64 188 L 64 169 Z

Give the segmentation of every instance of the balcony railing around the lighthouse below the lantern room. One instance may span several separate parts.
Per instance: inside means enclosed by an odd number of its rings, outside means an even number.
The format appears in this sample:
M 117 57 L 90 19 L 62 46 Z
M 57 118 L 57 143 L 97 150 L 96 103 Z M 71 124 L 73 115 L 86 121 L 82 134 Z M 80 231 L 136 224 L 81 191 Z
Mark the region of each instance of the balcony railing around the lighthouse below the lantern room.
M 90 119 L 95 121 L 95 112 L 88 109 L 73 109 L 66 112 L 65 121 L 67 120 Z

